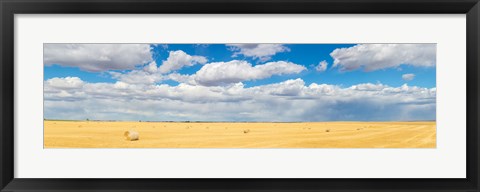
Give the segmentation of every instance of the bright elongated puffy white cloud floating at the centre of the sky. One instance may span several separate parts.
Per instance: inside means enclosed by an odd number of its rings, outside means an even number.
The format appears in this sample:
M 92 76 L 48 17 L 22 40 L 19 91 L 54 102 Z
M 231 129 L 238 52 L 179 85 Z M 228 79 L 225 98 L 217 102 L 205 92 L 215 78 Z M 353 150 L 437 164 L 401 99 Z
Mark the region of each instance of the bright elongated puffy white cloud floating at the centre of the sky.
M 303 70 L 304 66 L 285 61 L 252 66 L 247 61 L 233 60 L 206 64 L 193 75 L 193 79 L 201 85 L 216 86 L 265 79 L 273 75 L 298 74 Z

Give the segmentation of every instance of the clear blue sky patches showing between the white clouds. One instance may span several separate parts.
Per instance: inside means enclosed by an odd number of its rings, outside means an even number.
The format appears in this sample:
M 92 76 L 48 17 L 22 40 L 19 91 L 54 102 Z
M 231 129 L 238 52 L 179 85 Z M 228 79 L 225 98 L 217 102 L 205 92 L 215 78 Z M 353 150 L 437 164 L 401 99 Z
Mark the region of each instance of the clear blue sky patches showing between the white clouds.
M 273 76 L 269 79 L 254 80 L 246 82 L 247 86 L 256 86 L 288 80 L 292 77 L 301 77 L 306 83 L 326 83 L 337 84 L 342 86 L 351 86 L 360 83 L 377 83 L 401 86 L 408 83 L 411 86 L 420 86 L 433 88 L 436 87 L 436 68 L 435 67 L 415 67 L 410 65 L 399 66 L 395 68 L 386 68 L 382 70 L 365 72 L 363 70 L 355 70 L 349 72 L 341 72 L 334 68 L 328 68 L 324 72 L 318 72 L 314 68 L 321 61 L 327 61 L 330 67 L 333 63 L 332 57 L 329 55 L 337 48 L 348 48 L 355 44 L 287 44 L 285 46 L 290 48 L 289 52 L 278 53 L 272 56 L 273 61 L 291 61 L 293 63 L 303 65 L 308 71 L 301 74 L 287 75 L 287 76 Z M 232 58 L 232 51 L 228 50 L 225 44 L 169 44 L 168 48 L 162 46 L 152 46 L 153 59 L 156 63 L 162 63 L 162 60 L 168 58 L 170 50 L 182 50 L 189 55 L 202 55 L 211 62 L 230 61 L 232 59 L 240 59 L 251 62 L 253 65 L 261 64 L 257 59 L 251 57 L 238 56 Z M 193 74 L 202 66 L 195 65 L 185 67 L 179 70 L 181 74 Z M 126 70 L 126 72 L 129 70 Z M 410 81 L 402 79 L 403 74 L 415 74 L 415 78 Z M 115 82 L 110 75 L 105 72 L 88 72 L 81 70 L 78 67 L 63 67 L 61 65 L 45 66 L 45 80 L 54 77 L 81 77 L 87 82 Z M 167 82 L 169 84 L 177 84 L 175 82 Z

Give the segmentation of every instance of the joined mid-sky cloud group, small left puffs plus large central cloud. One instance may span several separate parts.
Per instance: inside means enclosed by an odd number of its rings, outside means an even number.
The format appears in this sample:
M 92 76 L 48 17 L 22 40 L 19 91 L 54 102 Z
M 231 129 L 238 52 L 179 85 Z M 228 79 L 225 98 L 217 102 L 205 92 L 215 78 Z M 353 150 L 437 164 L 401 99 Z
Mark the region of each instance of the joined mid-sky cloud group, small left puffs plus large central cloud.
M 160 67 L 155 61 L 127 73 L 111 71 L 112 78 L 129 84 L 153 84 L 170 79 L 190 85 L 218 86 L 243 81 L 269 78 L 274 75 L 298 74 L 306 68 L 291 62 L 277 61 L 252 66 L 247 61 L 232 60 L 229 62 L 214 62 L 202 66 L 195 74 L 184 75 L 175 71 L 183 66 L 191 66 L 207 60 L 201 56 L 190 56 L 183 51 L 172 51 Z M 171 63 L 176 63 L 175 66 Z M 165 66 L 168 66 L 166 70 Z

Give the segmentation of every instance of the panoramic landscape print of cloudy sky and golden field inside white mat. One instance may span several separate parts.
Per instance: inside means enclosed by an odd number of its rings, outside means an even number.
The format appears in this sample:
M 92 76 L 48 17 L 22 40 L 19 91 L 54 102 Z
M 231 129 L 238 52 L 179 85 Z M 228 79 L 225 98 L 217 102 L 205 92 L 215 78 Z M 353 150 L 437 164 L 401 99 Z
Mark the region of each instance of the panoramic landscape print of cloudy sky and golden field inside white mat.
M 43 49 L 44 148 L 436 148 L 436 44 Z

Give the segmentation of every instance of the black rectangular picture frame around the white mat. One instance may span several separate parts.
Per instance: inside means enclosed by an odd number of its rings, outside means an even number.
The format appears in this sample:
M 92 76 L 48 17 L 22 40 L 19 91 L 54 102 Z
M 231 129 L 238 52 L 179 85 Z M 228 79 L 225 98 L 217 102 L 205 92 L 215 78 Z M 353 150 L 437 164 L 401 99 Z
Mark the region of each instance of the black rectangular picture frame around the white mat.
M 479 191 L 479 0 L 0 0 L 2 191 Z M 466 179 L 14 178 L 14 15 L 151 13 L 466 14 Z

